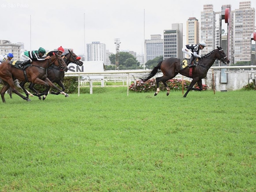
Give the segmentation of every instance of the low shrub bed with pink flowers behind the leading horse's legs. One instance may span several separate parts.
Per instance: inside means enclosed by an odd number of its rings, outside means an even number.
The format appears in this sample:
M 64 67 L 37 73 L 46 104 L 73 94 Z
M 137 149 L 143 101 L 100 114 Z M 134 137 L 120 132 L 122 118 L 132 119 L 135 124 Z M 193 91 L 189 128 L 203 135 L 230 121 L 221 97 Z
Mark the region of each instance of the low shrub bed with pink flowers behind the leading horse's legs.
M 170 88 L 171 91 L 179 91 L 182 90 L 182 80 L 180 79 L 170 79 L 166 81 L 168 87 Z M 184 89 L 186 86 L 190 84 L 190 81 L 188 80 L 183 80 L 184 83 Z M 194 86 L 195 88 L 199 88 L 197 83 Z M 136 81 L 135 83 L 132 83 L 130 90 L 135 91 L 135 92 L 151 92 L 156 90 L 156 81 L 155 79 L 150 79 L 146 82 L 143 82 L 141 80 Z M 166 90 L 164 84 L 162 82 L 159 83 L 159 89 L 160 90 Z M 208 86 L 203 84 L 203 90 L 207 90 Z

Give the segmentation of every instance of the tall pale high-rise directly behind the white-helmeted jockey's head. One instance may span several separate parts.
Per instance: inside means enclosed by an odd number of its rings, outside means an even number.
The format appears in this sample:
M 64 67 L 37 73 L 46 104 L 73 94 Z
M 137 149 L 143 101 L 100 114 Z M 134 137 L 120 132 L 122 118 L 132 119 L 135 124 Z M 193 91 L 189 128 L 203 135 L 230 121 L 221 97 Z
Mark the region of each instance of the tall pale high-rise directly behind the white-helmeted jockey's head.
M 215 12 L 213 11 L 213 5 L 204 5 L 204 9 L 201 12 L 200 41 L 204 41 L 206 47 L 201 50 L 201 55 L 205 55 L 213 49 L 216 49 L 215 30 Z

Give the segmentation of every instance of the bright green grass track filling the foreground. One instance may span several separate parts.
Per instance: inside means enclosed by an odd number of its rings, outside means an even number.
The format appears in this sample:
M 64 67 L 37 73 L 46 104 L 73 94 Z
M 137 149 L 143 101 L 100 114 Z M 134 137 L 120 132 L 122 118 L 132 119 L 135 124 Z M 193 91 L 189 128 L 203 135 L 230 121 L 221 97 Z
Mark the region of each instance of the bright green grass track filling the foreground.
M 5 94 L 0 191 L 256 191 L 255 95 Z

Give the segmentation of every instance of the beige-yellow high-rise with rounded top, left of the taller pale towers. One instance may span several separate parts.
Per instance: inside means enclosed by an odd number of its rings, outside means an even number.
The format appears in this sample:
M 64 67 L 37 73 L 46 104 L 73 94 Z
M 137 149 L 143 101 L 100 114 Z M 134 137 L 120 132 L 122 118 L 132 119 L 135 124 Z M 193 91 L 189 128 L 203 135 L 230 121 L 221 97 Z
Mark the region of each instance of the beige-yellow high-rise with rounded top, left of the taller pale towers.
M 189 17 L 187 20 L 187 41 L 186 44 L 199 43 L 199 22 L 195 17 Z

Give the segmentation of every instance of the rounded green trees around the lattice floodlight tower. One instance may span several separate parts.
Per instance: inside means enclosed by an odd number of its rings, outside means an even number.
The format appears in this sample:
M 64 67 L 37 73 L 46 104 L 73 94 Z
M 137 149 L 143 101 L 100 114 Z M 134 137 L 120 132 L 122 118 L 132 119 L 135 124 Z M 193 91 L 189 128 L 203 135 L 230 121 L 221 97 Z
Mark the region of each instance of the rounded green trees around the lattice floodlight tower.
M 110 63 L 113 66 L 115 66 L 115 55 L 116 54 L 111 54 L 109 56 Z M 128 52 L 119 52 L 118 61 L 120 70 L 142 69 L 142 67 L 140 67 L 140 62 L 138 62 L 136 58 Z M 106 69 L 109 70 L 110 67 L 107 67 Z

